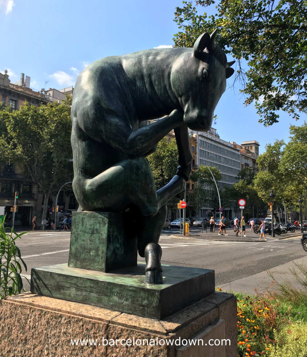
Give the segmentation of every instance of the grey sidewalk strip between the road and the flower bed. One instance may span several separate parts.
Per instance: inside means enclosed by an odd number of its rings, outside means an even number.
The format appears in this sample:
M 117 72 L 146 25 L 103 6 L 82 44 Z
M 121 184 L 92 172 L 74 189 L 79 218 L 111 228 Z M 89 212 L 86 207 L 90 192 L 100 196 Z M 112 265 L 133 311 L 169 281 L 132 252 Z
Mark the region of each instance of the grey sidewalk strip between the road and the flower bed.
M 293 262 L 297 264 L 303 264 L 305 267 L 307 267 L 307 255 L 303 258 L 278 265 L 277 267 L 269 269 L 269 271 L 273 274 L 277 282 L 285 282 L 288 280 L 294 287 L 301 289 L 302 286 L 298 284 L 298 282 L 294 279 L 293 275 L 289 271 L 289 268 L 295 268 L 298 276 L 303 278 L 303 274 L 298 270 Z M 250 295 L 255 294 L 255 288 L 261 293 L 267 292 L 268 290 L 275 290 L 274 283 L 272 283 L 272 278 L 268 275 L 266 270 L 262 271 L 261 273 L 247 276 L 246 278 L 241 278 L 229 283 L 218 285 L 216 288 L 218 287 L 221 288 L 224 292 L 244 292 Z

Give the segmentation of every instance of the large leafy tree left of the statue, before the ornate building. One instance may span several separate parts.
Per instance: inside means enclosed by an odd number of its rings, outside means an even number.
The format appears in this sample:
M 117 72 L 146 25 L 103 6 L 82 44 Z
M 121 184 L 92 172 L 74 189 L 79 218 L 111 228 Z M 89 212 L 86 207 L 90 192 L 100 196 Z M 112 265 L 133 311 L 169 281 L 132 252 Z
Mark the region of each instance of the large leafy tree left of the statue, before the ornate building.
M 61 104 L 36 107 L 25 102 L 19 110 L 0 108 L 5 126 L 0 138 L 0 160 L 24 168 L 24 174 L 44 194 L 42 219 L 49 197 L 73 177 L 70 145 L 71 97 Z

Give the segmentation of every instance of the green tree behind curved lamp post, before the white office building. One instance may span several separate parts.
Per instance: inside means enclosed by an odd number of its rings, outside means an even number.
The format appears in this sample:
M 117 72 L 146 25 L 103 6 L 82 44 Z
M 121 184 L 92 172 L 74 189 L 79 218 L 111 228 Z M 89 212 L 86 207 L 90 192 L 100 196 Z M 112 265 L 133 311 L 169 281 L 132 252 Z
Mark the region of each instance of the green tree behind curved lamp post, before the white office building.
M 211 167 L 211 171 L 216 181 L 221 180 L 222 174 L 216 167 Z M 216 186 L 207 166 L 200 165 L 198 170 L 191 175 L 191 180 L 195 181 L 195 186 L 189 201 L 198 214 L 204 202 L 212 207 L 219 205 Z

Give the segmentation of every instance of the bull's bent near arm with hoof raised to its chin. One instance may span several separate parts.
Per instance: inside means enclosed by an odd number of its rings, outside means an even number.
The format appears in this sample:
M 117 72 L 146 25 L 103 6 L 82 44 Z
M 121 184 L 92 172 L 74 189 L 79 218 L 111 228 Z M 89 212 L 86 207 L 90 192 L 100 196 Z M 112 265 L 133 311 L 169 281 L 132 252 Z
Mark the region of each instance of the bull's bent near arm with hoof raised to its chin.
M 107 142 L 127 156 L 140 157 L 151 151 L 155 145 L 172 129 L 183 121 L 183 112 L 173 110 L 170 115 L 137 130 L 115 115 L 104 115 L 96 118 L 94 113 L 83 111 L 77 114 L 81 129 L 94 140 Z

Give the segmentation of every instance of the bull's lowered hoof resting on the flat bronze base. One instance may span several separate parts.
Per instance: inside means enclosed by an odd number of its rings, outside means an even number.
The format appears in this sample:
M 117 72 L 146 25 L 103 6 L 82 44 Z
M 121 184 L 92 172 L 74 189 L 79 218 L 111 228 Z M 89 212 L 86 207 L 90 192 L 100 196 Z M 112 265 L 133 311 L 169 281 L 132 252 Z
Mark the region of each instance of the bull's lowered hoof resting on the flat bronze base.
M 145 247 L 145 283 L 163 284 L 161 256 L 162 249 L 159 244 L 147 244 L 147 246 Z

